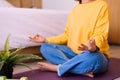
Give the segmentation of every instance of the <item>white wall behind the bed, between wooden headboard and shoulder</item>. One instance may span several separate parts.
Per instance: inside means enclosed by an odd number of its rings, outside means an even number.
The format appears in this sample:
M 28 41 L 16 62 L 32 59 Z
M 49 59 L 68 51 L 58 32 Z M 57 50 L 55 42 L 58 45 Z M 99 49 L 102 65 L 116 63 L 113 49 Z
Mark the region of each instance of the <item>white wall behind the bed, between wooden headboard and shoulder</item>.
M 75 4 L 74 0 L 42 0 L 43 9 L 71 10 Z

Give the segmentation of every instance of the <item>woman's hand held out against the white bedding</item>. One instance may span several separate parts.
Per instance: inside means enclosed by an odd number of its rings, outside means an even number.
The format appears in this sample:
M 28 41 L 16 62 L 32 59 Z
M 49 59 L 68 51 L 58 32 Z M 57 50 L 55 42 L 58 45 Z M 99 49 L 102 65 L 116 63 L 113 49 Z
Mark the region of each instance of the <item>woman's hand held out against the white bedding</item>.
M 36 43 L 44 43 L 47 42 L 46 38 L 44 38 L 43 36 L 37 34 L 34 37 L 29 37 L 30 41 L 32 42 L 36 42 Z

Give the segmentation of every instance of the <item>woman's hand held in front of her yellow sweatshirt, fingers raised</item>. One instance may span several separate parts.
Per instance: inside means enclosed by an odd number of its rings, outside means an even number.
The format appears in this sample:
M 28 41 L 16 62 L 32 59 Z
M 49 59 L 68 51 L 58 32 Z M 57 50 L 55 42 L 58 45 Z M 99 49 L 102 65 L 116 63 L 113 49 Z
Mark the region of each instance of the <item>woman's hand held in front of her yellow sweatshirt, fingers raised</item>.
M 78 50 L 94 52 L 97 50 L 95 39 L 91 38 L 88 40 L 88 45 L 80 44 Z

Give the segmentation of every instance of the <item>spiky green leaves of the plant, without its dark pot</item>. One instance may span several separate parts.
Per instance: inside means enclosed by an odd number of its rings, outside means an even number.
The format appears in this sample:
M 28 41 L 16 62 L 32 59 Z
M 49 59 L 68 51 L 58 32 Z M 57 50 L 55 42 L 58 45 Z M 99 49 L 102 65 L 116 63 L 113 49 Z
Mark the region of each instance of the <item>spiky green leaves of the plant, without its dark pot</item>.
M 10 46 L 9 46 L 9 38 L 10 38 L 10 35 L 7 37 L 5 41 L 4 49 L 0 51 L 0 70 L 4 65 L 8 67 L 14 67 L 15 65 L 23 65 L 30 69 L 30 67 L 27 64 L 23 63 L 23 61 L 29 60 L 29 59 L 38 59 L 38 60 L 42 59 L 42 57 L 34 54 L 18 55 L 23 50 L 23 48 L 19 48 L 11 52 Z

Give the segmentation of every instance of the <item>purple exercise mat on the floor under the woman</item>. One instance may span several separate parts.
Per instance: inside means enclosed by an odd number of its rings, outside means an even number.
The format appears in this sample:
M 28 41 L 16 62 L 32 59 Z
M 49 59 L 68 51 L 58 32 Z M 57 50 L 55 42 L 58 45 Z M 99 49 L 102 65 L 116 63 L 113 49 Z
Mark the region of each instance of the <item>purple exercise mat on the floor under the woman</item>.
M 43 72 L 39 69 L 33 71 L 27 71 L 19 74 L 15 74 L 14 78 L 20 78 L 26 76 L 29 80 L 114 80 L 120 77 L 120 59 L 111 58 L 110 66 L 106 73 L 95 76 L 95 78 L 89 78 L 81 75 L 66 74 L 63 77 L 59 77 L 55 72 Z

